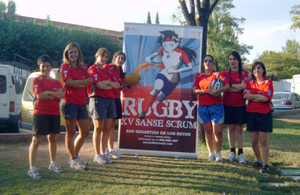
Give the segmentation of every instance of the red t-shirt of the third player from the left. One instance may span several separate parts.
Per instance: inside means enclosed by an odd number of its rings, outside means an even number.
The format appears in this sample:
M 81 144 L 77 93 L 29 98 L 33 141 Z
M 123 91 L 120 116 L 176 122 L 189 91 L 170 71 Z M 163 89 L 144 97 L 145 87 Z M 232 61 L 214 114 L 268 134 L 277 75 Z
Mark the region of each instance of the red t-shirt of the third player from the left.
M 93 76 L 93 84 L 88 86 L 89 97 L 91 96 L 101 96 L 104 98 L 114 98 L 114 89 L 99 89 L 96 87 L 96 83 L 100 81 L 112 81 L 111 74 L 106 69 L 99 68 L 98 65 L 94 64 L 89 67 L 89 72 Z

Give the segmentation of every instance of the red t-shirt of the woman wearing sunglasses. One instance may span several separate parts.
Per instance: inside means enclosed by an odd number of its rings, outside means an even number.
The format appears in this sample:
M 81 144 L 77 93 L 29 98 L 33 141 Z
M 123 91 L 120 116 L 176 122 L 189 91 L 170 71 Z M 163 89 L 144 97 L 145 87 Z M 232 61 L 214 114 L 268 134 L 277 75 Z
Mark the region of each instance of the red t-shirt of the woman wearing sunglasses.
M 221 75 L 219 71 L 212 71 L 211 74 L 206 75 L 205 71 L 196 75 L 193 87 L 197 87 L 200 90 L 209 89 L 211 82 L 214 79 L 220 78 L 224 85 L 228 84 L 228 81 Z M 209 106 L 213 104 L 222 103 L 221 96 L 211 96 L 211 94 L 202 94 L 198 96 L 199 106 Z

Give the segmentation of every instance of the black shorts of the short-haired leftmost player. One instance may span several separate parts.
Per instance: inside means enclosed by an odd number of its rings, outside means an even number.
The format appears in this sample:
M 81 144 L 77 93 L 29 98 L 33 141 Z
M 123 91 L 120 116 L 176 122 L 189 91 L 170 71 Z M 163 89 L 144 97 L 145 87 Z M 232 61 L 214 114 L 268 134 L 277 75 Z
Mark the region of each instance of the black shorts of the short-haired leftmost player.
M 32 135 L 59 134 L 61 116 L 50 114 L 34 114 L 32 119 Z

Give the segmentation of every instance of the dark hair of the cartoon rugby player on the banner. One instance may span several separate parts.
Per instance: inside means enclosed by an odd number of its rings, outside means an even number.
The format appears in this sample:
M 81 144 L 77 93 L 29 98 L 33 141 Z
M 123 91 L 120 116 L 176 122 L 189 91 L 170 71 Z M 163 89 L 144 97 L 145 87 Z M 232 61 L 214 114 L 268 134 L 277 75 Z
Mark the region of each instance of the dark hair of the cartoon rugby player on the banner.
M 186 52 L 186 55 L 189 57 L 191 61 L 196 61 L 197 54 L 194 50 L 189 49 L 185 46 L 181 46 L 181 38 L 178 36 L 178 34 L 175 33 L 175 31 L 159 31 L 161 33 L 161 36 L 157 39 L 157 42 L 162 46 L 163 42 L 166 41 L 166 39 L 169 39 L 170 41 L 173 40 L 175 43 L 179 43 L 179 49 L 182 49 L 184 52 Z

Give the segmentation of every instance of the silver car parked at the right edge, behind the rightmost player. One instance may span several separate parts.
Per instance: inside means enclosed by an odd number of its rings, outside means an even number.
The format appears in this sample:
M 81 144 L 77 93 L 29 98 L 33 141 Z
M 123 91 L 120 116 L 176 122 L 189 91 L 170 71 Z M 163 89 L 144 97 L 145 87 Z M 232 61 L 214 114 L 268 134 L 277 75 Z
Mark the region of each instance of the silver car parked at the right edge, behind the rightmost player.
M 300 96 L 294 92 L 274 92 L 272 103 L 274 109 L 298 109 Z

